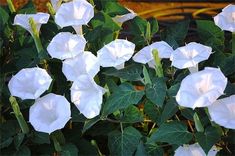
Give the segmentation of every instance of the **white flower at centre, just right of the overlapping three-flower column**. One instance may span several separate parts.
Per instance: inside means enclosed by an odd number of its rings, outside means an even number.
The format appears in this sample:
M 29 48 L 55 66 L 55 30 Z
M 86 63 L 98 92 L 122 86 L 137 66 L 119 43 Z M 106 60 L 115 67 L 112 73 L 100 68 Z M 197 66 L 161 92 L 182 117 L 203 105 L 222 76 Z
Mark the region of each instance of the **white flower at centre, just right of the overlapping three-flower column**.
M 97 52 L 102 67 L 124 68 L 124 63 L 133 55 L 135 44 L 127 40 L 116 39 Z

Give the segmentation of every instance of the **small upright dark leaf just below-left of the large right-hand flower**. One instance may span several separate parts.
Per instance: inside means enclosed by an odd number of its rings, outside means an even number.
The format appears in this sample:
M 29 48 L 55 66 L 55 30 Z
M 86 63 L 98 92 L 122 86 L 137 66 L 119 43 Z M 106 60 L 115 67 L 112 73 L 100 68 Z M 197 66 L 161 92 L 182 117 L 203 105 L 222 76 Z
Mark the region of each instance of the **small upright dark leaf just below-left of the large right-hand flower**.
M 178 104 L 175 101 L 175 99 L 170 99 L 161 114 L 161 123 L 165 122 L 166 120 L 168 120 L 169 118 L 171 118 L 173 115 L 175 115 L 175 113 L 178 111 Z

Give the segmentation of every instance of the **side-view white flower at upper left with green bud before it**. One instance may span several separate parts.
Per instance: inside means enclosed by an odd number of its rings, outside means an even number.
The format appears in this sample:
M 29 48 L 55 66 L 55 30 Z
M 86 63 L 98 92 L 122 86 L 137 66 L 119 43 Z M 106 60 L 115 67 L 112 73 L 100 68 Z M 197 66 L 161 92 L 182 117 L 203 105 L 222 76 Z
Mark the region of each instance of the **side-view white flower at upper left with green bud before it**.
M 50 15 L 47 13 L 37 13 L 37 14 L 17 14 L 14 19 L 14 25 L 20 25 L 24 29 L 26 29 L 30 34 L 33 34 L 31 26 L 29 24 L 29 19 L 33 18 L 37 31 L 39 32 L 41 25 L 46 24 L 49 20 Z

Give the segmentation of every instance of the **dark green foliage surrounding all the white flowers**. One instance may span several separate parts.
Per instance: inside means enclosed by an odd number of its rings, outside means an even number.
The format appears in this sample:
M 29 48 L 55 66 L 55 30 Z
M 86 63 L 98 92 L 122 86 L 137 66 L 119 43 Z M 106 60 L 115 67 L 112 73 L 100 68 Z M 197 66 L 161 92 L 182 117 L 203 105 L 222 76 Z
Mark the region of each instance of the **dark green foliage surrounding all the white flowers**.
M 128 38 L 136 44 L 136 51 L 153 42 L 155 34 L 168 42 L 174 49 L 187 41 L 188 29 L 193 21 L 182 21 L 169 27 L 158 27 L 154 19 L 145 20 L 135 17 L 118 25 L 112 17 L 127 13 L 127 10 L 115 1 L 94 0 L 95 16 L 83 26 L 87 40 L 87 51 L 96 52 L 105 44 L 113 41 L 119 32 L 119 38 Z M 21 13 L 35 12 L 28 5 Z M 174 150 L 183 145 L 198 142 L 207 153 L 213 145 L 221 148 L 221 155 L 234 155 L 234 130 L 226 129 L 210 121 L 206 108 L 195 110 L 177 105 L 175 95 L 181 80 L 188 75 L 187 69 L 178 70 L 170 66 L 169 60 L 162 60 L 164 77 L 157 77 L 155 71 L 147 65 L 129 60 L 121 70 L 102 68 L 95 77 L 96 82 L 106 88 L 99 116 L 86 119 L 72 107 L 72 119 L 65 128 L 55 134 L 37 132 L 27 123 L 30 130 L 22 130 L 9 102 L 10 92 L 7 84 L 12 75 L 20 69 L 39 66 L 53 78 L 53 84 L 47 91 L 64 95 L 70 99 L 71 83 L 61 72 L 61 62 L 51 59 L 46 50 L 46 65 L 39 63 L 37 50 L 31 35 L 19 26 L 12 25 L 15 14 L 8 7 L 0 7 L 0 92 L 1 92 L 1 155 L 173 155 Z M 199 42 L 211 46 L 214 53 L 200 68 L 220 67 L 228 78 L 224 96 L 235 93 L 235 56 L 232 55 L 231 42 L 210 20 L 197 20 L 196 33 Z M 150 27 L 150 30 L 149 30 Z M 50 40 L 58 32 L 74 31 L 59 29 L 50 17 L 42 25 L 40 38 L 46 49 Z M 226 43 L 225 43 L 226 42 Z M 63 44 L 63 43 L 61 43 Z M 46 94 L 46 93 L 45 93 Z M 26 121 L 33 100 L 17 98 L 20 110 Z M 198 131 L 200 120 L 203 131 Z M 233 139 L 232 139 L 233 138 Z

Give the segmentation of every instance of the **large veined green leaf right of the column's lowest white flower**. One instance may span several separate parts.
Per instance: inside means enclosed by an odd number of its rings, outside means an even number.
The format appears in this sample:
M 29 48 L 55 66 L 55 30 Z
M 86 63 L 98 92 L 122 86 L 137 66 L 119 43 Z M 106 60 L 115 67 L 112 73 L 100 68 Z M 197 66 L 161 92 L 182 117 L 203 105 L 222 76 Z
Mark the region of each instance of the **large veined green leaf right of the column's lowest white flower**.
M 102 117 L 105 117 L 119 109 L 125 109 L 132 104 L 137 104 L 144 96 L 144 91 L 137 91 L 129 83 L 121 84 L 117 90 L 109 96 L 103 106 Z

